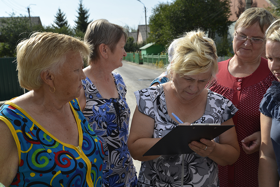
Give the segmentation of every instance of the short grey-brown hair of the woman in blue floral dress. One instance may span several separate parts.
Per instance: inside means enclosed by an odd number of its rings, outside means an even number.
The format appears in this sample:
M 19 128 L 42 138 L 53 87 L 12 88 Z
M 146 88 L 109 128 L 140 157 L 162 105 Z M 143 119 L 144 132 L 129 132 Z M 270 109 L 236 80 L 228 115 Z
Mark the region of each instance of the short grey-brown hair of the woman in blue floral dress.
M 110 23 L 105 19 L 92 21 L 87 26 L 85 34 L 85 41 L 94 46 L 93 53 L 89 56 L 87 64 L 90 65 L 91 60 L 100 58 L 100 44 L 108 45 L 111 52 L 114 52 L 123 35 L 126 41 L 126 30 L 122 26 Z

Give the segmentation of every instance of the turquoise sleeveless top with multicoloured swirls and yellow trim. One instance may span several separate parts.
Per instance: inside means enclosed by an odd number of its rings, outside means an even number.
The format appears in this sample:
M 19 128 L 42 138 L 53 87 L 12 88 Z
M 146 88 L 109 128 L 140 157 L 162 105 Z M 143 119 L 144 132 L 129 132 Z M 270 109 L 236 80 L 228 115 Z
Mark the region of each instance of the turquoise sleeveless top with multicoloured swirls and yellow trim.
M 59 141 L 19 106 L 11 102 L 2 105 L 0 120 L 12 132 L 20 161 L 10 186 L 101 187 L 103 145 L 83 116 L 77 99 L 69 104 L 78 124 L 78 147 Z

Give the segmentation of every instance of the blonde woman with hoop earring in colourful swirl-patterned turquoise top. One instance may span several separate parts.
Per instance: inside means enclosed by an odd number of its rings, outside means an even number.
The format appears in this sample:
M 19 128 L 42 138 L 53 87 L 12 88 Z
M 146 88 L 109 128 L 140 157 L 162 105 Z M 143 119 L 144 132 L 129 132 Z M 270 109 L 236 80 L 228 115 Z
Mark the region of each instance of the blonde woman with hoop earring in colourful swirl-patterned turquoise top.
M 83 116 L 82 56 L 88 44 L 37 32 L 17 45 L 26 94 L 0 108 L 0 182 L 5 186 L 101 187 L 104 150 Z

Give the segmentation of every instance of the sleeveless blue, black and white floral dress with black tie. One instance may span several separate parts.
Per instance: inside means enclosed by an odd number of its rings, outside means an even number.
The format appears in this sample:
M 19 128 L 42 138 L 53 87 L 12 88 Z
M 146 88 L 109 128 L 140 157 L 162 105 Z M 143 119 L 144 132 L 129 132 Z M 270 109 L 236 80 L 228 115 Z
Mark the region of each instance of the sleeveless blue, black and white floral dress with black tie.
M 83 114 L 104 146 L 103 186 L 134 187 L 137 175 L 127 147 L 130 118 L 125 99 L 127 89 L 119 73 L 112 75 L 119 98 L 104 99 L 88 77 L 82 80 L 86 94 Z

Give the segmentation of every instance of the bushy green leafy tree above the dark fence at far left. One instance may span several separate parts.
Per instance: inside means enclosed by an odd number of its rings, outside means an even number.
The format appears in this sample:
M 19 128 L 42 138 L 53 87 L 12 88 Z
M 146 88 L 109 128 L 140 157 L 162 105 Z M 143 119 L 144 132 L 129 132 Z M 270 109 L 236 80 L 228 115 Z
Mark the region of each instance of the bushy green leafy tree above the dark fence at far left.
M 1 19 L 0 23 L 0 57 L 14 57 L 16 45 L 33 31 L 42 29 L 41 26 L 32 24 L 29 17 L 15 17 L 14 13 L 10 16 Z

